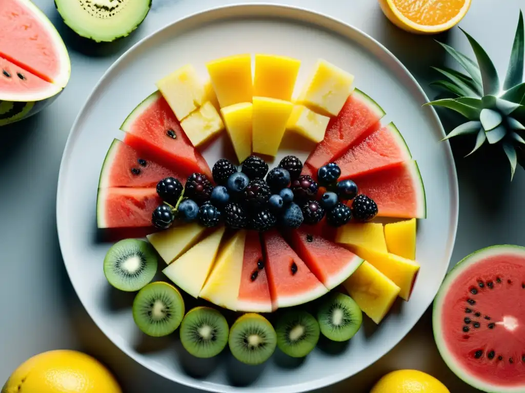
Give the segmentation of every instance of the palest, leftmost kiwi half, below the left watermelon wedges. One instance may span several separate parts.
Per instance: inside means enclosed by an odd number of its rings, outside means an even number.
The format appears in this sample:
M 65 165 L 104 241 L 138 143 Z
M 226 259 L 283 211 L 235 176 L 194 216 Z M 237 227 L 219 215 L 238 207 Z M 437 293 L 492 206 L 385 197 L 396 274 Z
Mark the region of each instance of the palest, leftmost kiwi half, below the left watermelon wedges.
M 150 282 L 157 272 L 158 259 L 148 242 L 125 239 L 111 246 L 104 258 L 104 275 L 121 291 L 134 292 Z

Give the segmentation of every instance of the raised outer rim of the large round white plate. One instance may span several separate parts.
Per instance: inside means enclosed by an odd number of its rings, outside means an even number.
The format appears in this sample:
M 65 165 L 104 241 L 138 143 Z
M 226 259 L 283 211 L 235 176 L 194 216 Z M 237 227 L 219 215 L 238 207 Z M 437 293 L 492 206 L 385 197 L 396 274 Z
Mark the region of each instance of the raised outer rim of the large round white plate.
M 62 248 L 63 248 L 62 247 L 62 236 L 61 236 L 61 232 L 62 231 L 60 230 L 61 226 L 59 225 L 59 222 L 62 221 L 60 219 L 60 217 L 63 215 L 61 213 L 61 211 L 62 211 L 62 207 L 61 206 L 63 206 L 64 204 L 60 203 L 61 202 L 60 194 L 61 194 L 61 190 L 64 188 L 64 183 L 65 183 L 65 180 L 64 180 L 64 177 L 65 177 L 64 172 L 66 171 L 66 169 L 65 169 L 65 167 L 66 167 L 65 162 L 68 161 L 68 156 L 71 154 L 71 146 L 74 143 L 73 141 L 74 141 L 76 135 L 78 134 L 78 132 L 76 132 L 76 130 L 78 129 L 78 126 L 79 126 L 79 124 L 82 121 L 83 114 L 86 112 L 85 111 L 86 108 L 89 107 L 90 105 L 92 105 L 93 102 L 97 100 L 95 92 L 98 90 L 100 85 L 102 85 L 104 82 L 106 82 L 106 79 L 109 78 L 109 75 L 113 72 L 113 70 L 118 68 L 120 66 L 120 64 L 123 63 L 127 59 L 127 57 L 131 55 L 131 53 L 134 50 L 136 50 L 140 46 L 144 45 L 144 43 L 146 41 L 152 39 L 154 36 L 156 36 L 158 34 L 161 34 L 162 31 L 167 30 L 167 29 L 171 29 L 177 24 L 182 24 L 184 22 L 190 21 L 193 18 L 198 18 L 198 17 L 208 16 L 211 20 L 214 20 L 214 21 L 220 20 L 220 19 L 224 19 L 225 16 L 214 17 L 214 14 L 215 13 L 219 13 L 219 14 L 220 13 L 224 13 L 224 12 L 227 12 L 228 10 L 234 10 L 236 12 L 236 14 L 232 14 L 229 17 L 238 16 L 241 12 L 243 12 L 248 17 L 254 17 L 254 16 L 256 16 L 255 10 L 257 10 L 258 8 L 264 8 L 266 10 L 266 14 L 262 15 L 262 18 L 267 18 L 268 14 L 269 14 L 269 11 L 273 9 L 273 10 L 276 11 L 276 13 L 275 13 L 275 15 L 272 15 L 272 16 L 274 16 L 276 18 L 281 17 L 283 19 L 288 19 L 288 20 L 296 20 L 296 21 L 307 22 L 309 24 L 317 25 L 317 26 L 319 26 L 321 28 L 324 28 L 324 29 L 330 29 L 329 27 L 327 27 L 328 24 L 336 25 L 336 26 L 340 27 L 341 29 L 344 29 L 346 31 L 350 31 L 353 35 L 361 36 L 364 40 L 371 42 L 376 47 L 376 49 L 380 49 L 384 54 L 386 54 L 387 57 L 390 58 L 390 60 L 393 61 L 397 65 L 397 67 L 400 67 L 401 71 L 403 71 L 406 74 L 406 76 L 412 81 L 413 85 L 417 88 L 418 92 L 422 95 L 422 97 L 427 102 L 429 101 L 428 96 L 426 95 L 425 91 L 423 90 L 423 88 L 419 84 L 419 82 L 414 78 L 414 75 L 412 75 L 412 73 L 405 67 L 405 65 L 399 59 L 397 59 L 397 57 L 390 50 L 388 50 L 381 42 L 377 41 L 375 38 L 373 38 L 372 36 L 370 36 L 366 32 L 362 31 L 361 29 L 359 29 L 359 28 L 357 28 L 355 26 L 352 26 L 349 23 L 346 23 L 345 21 L 343 21 L 343 20 L 341 20 L 339 18 L 327 15 L 327 14 L 325 14 L 323 12 L 319 12 L 319 11 L 311 9 L 311 8 L 301 7 L 301 6 L 294 6 L 294 5 L 287 5 L 287 4 L 279 4 L 279 3 L 267 3 L 267 2 L 262 2 L 262 3 L 237 3 L 237 4 L 227 4 L 227 5 L 223 5 L 223 6 L 216 6 L 216 7 L 206 7 L 205 9 L 202 9 L 202 10 L 199 10 L 197 12 L 193 12 L 191 14 L 188 14 L 188 15 L 185 15 L 183 17 L 180 17 L 180 18 L 172 21 L 171 23 L 168 23 L 168 24 L 166 24 L 166 25 L 164 25 L 164 26 L 162 26 L 162 27 L 152 31 L 150 34 L 148 34 L 147 36 L 143 37 L 142 39 L 140 39 L 139 41 L 134 43 L 134 45 L 132 45 L 129 49 L 127 49 L 124 53 L 122 53 L 121 56 L 119 56 L 119 58 L 117 60 L 115 60 L 110 65 L 110 67 L 102 74 L 102 76 L 100 77 L 98 82 L 95 84 L 95 86 L 93 86 L 93 88 L 92 88 L 91 92 L 89 93 L 87 99 L 82 104 L 82 106 L 81 106 L 81 108 L 80 108 L 80 110 L 79 110 L 79 112 L 78 112 L 78 114 L 77 114 L 77 116 L 75 118 L 74 123 L 71 126 L 71 129 L 69 131 L 69 135 L 68 135 L 67 140 L 66 140 L 66 145 L 64 147 L 64 151 L 62 152 L 62 157 L 61 157 L 61 160 L 60 160 L 60 169 L 59 169 L 59 173 L 58 173 L 57 196 L 56 196 L 57 233 L 58 233 L 58 242 L 59 242 L 59 246 L 60 246 L 60 253 L 62 254 L 62 260 L 64 261 L 64 265 L 66 267 L 66 271 L 67 271 L 69 280 L 71 282 L 72 287 L 75 289 L 75 292 L 77 293 L 77 296 L 78 296 L 77 288 L 75 286 L 75 283 L 71 280 L 71 275 L 70 275 L 70 272 L 69 272 L 68 263 L 67 263 L 66 259 L 64 258 L 64 253 L 62 252 Z M 288 14 L 285 15 L 285 16 L 282 16 L 282 15 L 279 16 L 279 12 L 281 12 L 281 13 L 288 12 Z M 295 13 L 296 15 L 292 16 L 291 13 Z M 308 17 L 308 20 L 306 19 L 306 17 Z M 340 32 L 337 32 L 337 31 L 334 31 L 334 32 L 336 34 L 340 34 Z M 344 37 L 344 38 L 349 39 L 348 37 Z M 428 116 L 433 117 L 433 121 L 436 123 L 436 127 L 439 128 L 440 134 L 443 137 L 445 137 L 446 136 L 445 129 L 443 127 L 443 124 L 442 124 L 439 116 L 437 115 L 437 113 L 435 111 L 435 108 L 430 106 L 428 109 L 429 109 L 429 115 Z M 449 247 L 448 255 L 447 255 L 448 263 L 446 265 L 445 271 L 442 274 L 442 278 L 440 279 L 440 282 L 443 282 L 443 280 L 445 279 L 445 276 L 446 276 L 446 274 L 448 272 L 448 268 L 449 268 L 449 265 L 450 265 L 450 260 L 451 260 L 451 257 L 452 257 L 453 251 L 454 251 L 455 242 L 456 242 L 457 226 L 458 226 L 458 220 L 459 220 L 459 185 L 458 185 L 458 177 L 457 177 L 456 165 L 455 165 L 454 156 L 453 156 L 453 153 L 452 153 L 452 150 L 451 150 L 451 147 L 450 147 L 450 143 L 449 143 L 448 140 L 445 141 L 445 142 L 446 142 L 445 154 L 448 157 L 449 162 L 451 164 L 450 167 L 447 170 L 449 171 L 450 182 L 451 182 L 450 185 L 452 186 L 451 190 L 450 190 L 451 215 L 452 215 L 451 216 L 452 222 L 450 224 L 452 226 L 452 228 L 451 228 L 452 231 L 449 234 L 450 247 Z M 437 290 L 436 290 L 436 294 L 437 294 Z M 430 305 L 434 301 L 436 294 L 434 294 L 432 299 L 430 299 L 428 304 L 426 304 L 425 311 L 430 307 Z M 84 304 L 84 302 L 80 298 L 80 296 L 78 296 L 78 298 L 80 300 L 80 303 L 82 304 L 82 307 L 86 310 L 86 312 L 90 316 L 91 320 L 97 325 L 97 327 L 102 331 L 102 333 L 104 335 L 106 335 L 106 337 L 108 337 L 108 339 L 115 346 L 117 346 L 119 348 L 119 350 L 121 350 L 125 355 L 127 355 L 131 359 L 133 359 L 133 361 L 135 361 L 138 364 L 140 364 L 142 367 L 144 367 L 144 368 L 146 368 L 148 370 L 151 370 L 151 372 L 155 373 L 156 375 L 159 375 L 159 376 L 161 376 L 161 377 L 163 377 L 163 378 L 165 378 L 167 380 L 173 381 L 176 384 L 184 385 L 184 386 L 187 386 L 187 387 L 191 387 L 191 388 L 199 389 L 199 390 L 203 390 L 203 391 L 211 391 L 211 392 L 222 393 L 222 392 L 227 392 L 227 391 L 246 390 L 246 388 L 242 388 L 241 389 L 239 387 L 234 387 L 234 386 L 217 385 L 215 383 L 210 383 L 210 382 L 199 380 L 199 379 L 193 379 L 192 383 L 189 383 L 188 381 L 174 379 L 174 378 L 168 376 L 166 373 L 163 373 L 162 371 L 156 370 L 154 367 L 152 367 L 152 366 L 146 364 L 146 362 L 142 361 L 142 359 L 139 359 L 139 358 L 135 357 L 135 354 L 133 354 L 132 351 L 128 350 L 128 348 L 125 348 L 119 342 L 119 340 L 115 340 L 114 339 L 115 337 L 113 337 L 113 334 L 110 334 L 107 331 L 106 326 L 103 326 L 95 318 L 93 318 L 93 314 L 91 313 L 90 310 L 88 310 L 88 308 L 86 307 L 86 305 Z M 417 322 L 419 322 L 419 320 L 421 320 L 421 318 L 424 315 L 425 311 L 421 314 L 421 316 L 419 316 L 419 318 L 413 324 L 409 324 L 409 326 L 405 326 L 403 334 L 400 336 L 399 340 L 397 340 L 391 346 L 387 347 L 387 350 L 385 351 L 385 353 L 383 355 L 377 357 L 375 360 L 373 360 L 373 361 L 369 362 L 368 364 L 366 364 L 362 368 L 362 370 L 360 372 L 362 372 L 366 368 L 369 368 L 371 365 L 373 365 L 379 359 L 384 357 L 387 353 L 392 351 L 392 349 L 396 345 L 398 345 L 406 337 L 406 335 L 409 332 L 412 331 L 412 329 L 417 324 Z M 406 329 L 407 327 L 408 327 L 408 329 Z M 351 373 L 348 374 L 348 373 L 345 373 L 345 372 L 341 372 L 341 373 L 337 373 L 337 374 L 331 374 L 331 375 L 325 376 L 323 378 L 319 378 L 319 379 L 317 379 L 315 381 L 312 381 L 312 382 L 299 383 L 299 384 L 295 384 L 295 385 L 288 385 L 287 386 L 287 391 L 288 392 L 293 392 L 293 393 L 299 393 L 299 392 L 306 392 L 306 391 L 310 391 L 310 390 L 314 390 L 314 389 L 324 388 L 324 387 L 333 385 L 335 383 L 338 383 L 338 382 L 340 382 L 340 381 L 342 381 L 344 379 L 348 379 L 348 378 L 350 378 L 350 377 L 352 377 L 354 375 L 359 374 L 360 372 L 355 373 L 355 374 L 351 374 Z M 280 392 L 280 393 L 282 393 L 282 391 L 283 391 L 279 387 L 248 387 L 248 389 L 250 391 L 257 391 L 257 392 Z

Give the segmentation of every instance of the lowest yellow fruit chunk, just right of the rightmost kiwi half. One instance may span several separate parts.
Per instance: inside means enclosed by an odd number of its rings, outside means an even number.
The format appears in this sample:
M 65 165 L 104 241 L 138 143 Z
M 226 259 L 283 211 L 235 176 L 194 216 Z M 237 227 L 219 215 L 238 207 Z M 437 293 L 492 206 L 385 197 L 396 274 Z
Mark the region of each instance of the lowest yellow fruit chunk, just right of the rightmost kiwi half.
M 352 299 L 375 323 L 380 323 L 394 304 L 400 288 L 367 261 L 343 282 Z

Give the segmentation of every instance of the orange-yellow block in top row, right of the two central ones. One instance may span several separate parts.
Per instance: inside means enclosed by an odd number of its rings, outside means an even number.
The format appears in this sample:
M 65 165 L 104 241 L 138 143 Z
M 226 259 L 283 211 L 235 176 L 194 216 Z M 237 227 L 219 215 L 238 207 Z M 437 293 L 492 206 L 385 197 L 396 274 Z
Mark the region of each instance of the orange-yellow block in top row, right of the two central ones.
M 297 59 L 257 53 L 254 95 L 290 101 L 300 66 Z

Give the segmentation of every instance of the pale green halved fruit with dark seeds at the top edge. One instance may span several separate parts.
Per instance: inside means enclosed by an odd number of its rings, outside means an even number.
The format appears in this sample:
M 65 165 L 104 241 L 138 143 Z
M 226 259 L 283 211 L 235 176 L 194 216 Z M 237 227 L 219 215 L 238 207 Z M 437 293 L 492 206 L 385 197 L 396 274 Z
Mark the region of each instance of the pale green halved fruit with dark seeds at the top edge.
M 97 42 L 125 37 L 144 20 L 151 0 L 55 0 L 66 25 Z

